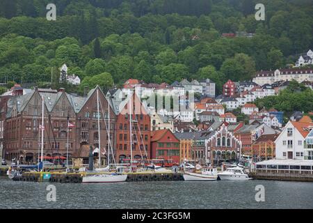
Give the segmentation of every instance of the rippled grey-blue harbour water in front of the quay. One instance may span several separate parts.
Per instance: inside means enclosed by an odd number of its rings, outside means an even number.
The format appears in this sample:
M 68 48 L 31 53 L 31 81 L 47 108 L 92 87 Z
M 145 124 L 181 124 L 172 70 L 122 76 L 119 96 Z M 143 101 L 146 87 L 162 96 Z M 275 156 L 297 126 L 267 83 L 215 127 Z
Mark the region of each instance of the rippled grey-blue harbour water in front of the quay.
M 0 208 L 313 208 L 313 183 L 269 180 L 56 183 L 56 202 L 47 202 L 47 185 L 2 177 Z M 265 202 L 255 201 L 256 185 L 264 185 Z

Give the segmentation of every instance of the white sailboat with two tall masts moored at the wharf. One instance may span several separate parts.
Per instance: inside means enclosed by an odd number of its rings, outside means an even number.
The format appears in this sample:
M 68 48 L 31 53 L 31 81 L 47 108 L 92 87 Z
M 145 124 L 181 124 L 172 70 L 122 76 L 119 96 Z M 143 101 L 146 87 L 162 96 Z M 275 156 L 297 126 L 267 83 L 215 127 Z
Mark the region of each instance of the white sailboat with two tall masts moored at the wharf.
M 109 171 L 110 170 L 110 148 L 111 148 L 111 138 L 110 138 L 110 102 L 108 100 L 109 105 L 109 123 L 108 128 L 106 129 L 109 136 L 109 151 L 108 151 L 108 166 L 105 168 L 101 168 L 101 141 L 100 141 L 100 116 L 99 116 L 99 87 L 97 87 L 97 118 L 98 118 L 98 135 L 99 135 L 99 168 L 95 169 L 96 171 Z M 103 112 L 102 112 L 103 113 Z M 104 121 L 105 121 L 105 116 Z M 125 182 L 127 180 L 126 174 L 95 174 L 91 176 L 83 176 L 83 183 L 120 183 Z

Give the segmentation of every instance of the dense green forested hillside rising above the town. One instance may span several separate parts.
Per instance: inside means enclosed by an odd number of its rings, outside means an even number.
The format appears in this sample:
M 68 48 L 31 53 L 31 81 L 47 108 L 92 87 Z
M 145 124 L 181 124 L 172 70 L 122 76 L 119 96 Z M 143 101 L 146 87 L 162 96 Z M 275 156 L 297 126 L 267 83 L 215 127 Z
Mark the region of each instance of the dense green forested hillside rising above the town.
M 55 3 L 56 21 L 47 21 Z M 255 20 L 264 3 L 266 20 Z M 312 0 L 1 0 L 0 82 L 49 82 L 63 63 L 70 73 L 107 72 L 173 82 L 209 77 L 251 79 L 283 68 L 313 48 Z M 246 31 L 253 38 L 222 38 Z M 106 74 L 106 77 L 108 74 Z M 82 86 L 83 86 L 82 85 Z

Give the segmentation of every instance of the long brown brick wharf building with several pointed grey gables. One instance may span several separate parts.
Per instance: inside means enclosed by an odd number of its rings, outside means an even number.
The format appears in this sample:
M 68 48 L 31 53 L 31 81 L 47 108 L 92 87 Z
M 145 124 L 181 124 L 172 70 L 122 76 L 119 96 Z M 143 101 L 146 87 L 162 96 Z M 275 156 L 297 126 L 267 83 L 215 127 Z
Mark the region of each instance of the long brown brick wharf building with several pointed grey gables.
M 13 90 L 14 91 L 14 90 Z M 97 91 L 99 95 L 99 114 L 97 114 Z M 85 96 L 51 89 L 37 89 L 23 94 L 15 93 L 4 97 L 1 103 L 1 125 L 4 126 L 3 158 L 18 159 L 19 162 L 33 163 L 40 153 L 40 125 L 42 122 L 42 98 L 44 99 L 44 156 L 66 157 L 67 134 L 69 157 L 83 148 L 99 147 L 101 139 L 102 153 L 108 149 L 109 135 L 114 147 L 116 115 L 109 101 L 99 87 Z M 1 98 L 1 101 L 4 99 Z M 109 112 L 110 109 L 110 112 Z M 109 118 L 110 114 L 110 118 Z M 100 134 L 97 128 L 97 116 L 100 116 Z M 110 134 L 108 123 L 110 120 Z M 74 125 L 68 128 L 67 122 Z M 105 156 L 104 156 L 105 158 Z

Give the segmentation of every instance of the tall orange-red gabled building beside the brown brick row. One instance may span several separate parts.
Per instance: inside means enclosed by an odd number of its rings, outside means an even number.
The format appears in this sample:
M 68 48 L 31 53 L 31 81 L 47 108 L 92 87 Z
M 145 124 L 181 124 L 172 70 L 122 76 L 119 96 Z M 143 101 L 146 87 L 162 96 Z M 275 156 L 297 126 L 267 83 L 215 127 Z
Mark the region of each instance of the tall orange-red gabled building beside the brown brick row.
M 129 100 L 125 100 L 125 102 L 122 103 L 124 104 L 121 105 L 122 109 L 117 116 L 115 125 L 115 159 L 121 161 L 122 159 L 129 159 L 131 157 L 130 123 L 132 127 L 133 159 L 140 160 L 142 157 L 144 159 L 150 159 L 150 116 L 136 93 L 129 97 Z M 129 120 L 129 106 L 131 108 L 131 122 Z

